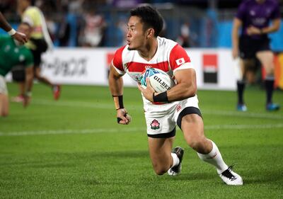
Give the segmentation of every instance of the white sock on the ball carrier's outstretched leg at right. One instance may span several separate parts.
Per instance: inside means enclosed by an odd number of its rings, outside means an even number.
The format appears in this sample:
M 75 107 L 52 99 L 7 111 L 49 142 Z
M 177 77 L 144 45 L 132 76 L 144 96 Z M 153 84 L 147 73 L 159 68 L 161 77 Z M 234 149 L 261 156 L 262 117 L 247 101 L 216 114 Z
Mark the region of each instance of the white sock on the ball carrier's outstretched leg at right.
M 212 140 L 210 141 L 212 142 Z M 222 159 L 221 153 L 219 152 L 219 149 L 214 142 L 212 142 L 212 151 L 209 152 L 209 154 L 197 153 L 197 155 L 203 161 L 206 161 L 207 163 L 215 166 L 218 174 L 221 174 L 223 171 L 228 169 L 227 164 L 225 164 L 224 160 Z

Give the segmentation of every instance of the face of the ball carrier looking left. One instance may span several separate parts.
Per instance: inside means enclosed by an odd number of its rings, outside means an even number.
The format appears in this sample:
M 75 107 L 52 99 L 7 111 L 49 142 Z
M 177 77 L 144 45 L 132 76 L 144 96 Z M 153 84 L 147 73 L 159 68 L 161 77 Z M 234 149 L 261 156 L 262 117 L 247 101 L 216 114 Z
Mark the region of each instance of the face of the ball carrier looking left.
M 138 16 L 131 16 L 127 25 L 127 45 L 129 50 L 138 50 L 145 45 L 146 33 Z

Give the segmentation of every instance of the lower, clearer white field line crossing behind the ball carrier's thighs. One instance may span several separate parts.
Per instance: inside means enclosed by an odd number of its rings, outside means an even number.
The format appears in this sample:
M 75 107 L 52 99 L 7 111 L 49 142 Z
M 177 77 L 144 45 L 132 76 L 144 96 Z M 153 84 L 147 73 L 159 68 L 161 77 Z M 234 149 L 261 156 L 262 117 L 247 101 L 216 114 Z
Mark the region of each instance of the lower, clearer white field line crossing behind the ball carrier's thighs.
M 283 128 L 283 123 L 266 125 L 207 125 L 204 130 L 243 130 L 243 129 L 270 129 Z M 18 131 L 18 132 L 0 132 L 1 136 L 23 136 L 23 135 L 62 135 L 62 134 L 95 134 L 105 132 L 146 132 L 146 127 L 128 127 L 123 130 L 117 128 L 100 128 L 84 130 L 38 130 L 38 131 Z

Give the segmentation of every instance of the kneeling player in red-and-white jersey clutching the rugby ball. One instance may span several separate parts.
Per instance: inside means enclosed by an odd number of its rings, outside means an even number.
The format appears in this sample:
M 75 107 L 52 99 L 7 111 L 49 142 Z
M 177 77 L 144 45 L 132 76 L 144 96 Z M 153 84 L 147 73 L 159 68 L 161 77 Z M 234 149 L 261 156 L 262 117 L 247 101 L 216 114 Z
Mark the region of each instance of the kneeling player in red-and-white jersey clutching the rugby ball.
M 187 144 L 203 161 L 215 166 L 221 179 L 228 185 L 240 186 L 243 179 L 227 166 L 212 140 L 204 135 L 202 114 L 198 107 L 195 69 L 187 52 L 173 40 L 158 37 L 163 18 L 151 6 L 134 8 L 130 12 L 127 45 L 120 47 L 112 59 L 109 87 L 117 110 L 117 122 L 131 121 L 123 105 L 124 74 L 139 82 L 146 67 L 155 67 L 175 76 L 176 86 L 163 93 L 155 93 L 147 79 L 147 88 L 139 90 L 144 101 L 149 154 L 158 175 L 180 173 L 183 149 L 175 147 L 175 126 L 183 131 Z M 168 66 L 170 65 L 170 67 Z

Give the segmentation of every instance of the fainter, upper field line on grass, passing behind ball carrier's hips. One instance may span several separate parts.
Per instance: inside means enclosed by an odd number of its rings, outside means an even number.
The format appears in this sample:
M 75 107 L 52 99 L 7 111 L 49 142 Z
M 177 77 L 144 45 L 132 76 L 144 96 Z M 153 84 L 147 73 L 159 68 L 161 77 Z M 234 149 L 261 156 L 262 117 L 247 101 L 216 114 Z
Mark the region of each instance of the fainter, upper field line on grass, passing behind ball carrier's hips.
M 101 109 L 113 109 L 114 104 L 110 103 L 98 103 L 93 102 L 83 102 L 83 101 L 49 101 L 49 100 L 38 100 L 32 101 L 33 104 L 44 105 L 44 106 L 67 106 L 73 108 L 101 108 Z M 243 118 L 265 118 L 265 119 L 275 119 L 283 120 L 282 115 L 274 115 L 272 113 L 240 113 L 235 111 L 226 110 L 203 110 L 202 113 L 207 115 L 224 115 L 224 116 L 238 116 Z

